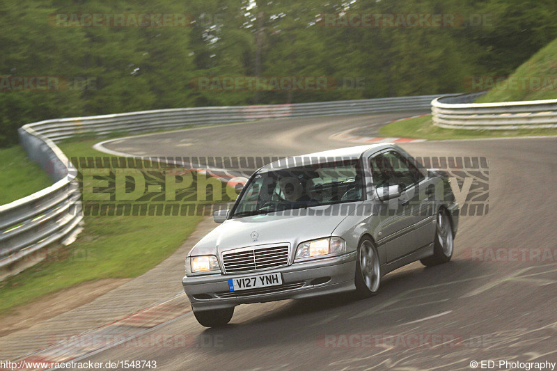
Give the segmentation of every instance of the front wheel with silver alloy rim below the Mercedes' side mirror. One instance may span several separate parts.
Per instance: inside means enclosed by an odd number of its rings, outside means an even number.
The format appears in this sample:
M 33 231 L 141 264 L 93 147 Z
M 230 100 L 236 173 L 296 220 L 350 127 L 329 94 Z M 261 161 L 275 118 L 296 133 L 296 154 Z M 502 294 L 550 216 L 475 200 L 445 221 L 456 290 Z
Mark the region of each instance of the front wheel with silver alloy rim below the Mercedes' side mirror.
M 361 240 L 358 246 L 358 260 L 356 261 L 356 294 L 366 298 L 377 294 L 381 282 L 381 264 L 377 248 L 368 237 Z

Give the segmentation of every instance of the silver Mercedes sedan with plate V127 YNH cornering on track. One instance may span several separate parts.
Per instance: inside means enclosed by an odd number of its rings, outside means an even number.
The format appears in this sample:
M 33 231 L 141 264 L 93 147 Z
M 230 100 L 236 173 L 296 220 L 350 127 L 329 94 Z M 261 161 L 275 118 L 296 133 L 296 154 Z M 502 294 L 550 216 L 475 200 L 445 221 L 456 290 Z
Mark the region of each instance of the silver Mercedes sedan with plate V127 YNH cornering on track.
M 355 290 L 420 260 L 448 262 L 458 204 L 444 171 L 393 143 L 281 159 L 253 173 L 186 258 L 182 285 L 203 326 L 235 306 Z

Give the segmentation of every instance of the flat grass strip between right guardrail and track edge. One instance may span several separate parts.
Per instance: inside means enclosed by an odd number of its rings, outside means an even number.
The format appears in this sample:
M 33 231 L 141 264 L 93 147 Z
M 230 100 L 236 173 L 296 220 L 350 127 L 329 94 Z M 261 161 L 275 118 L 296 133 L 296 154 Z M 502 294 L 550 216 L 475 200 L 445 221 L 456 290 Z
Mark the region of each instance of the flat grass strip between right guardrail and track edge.
M 557 135 L 557 129 L 518 129 L 518 130 L 466 130 L 444 129 L 434 126 L 432 116 L 421 116 L 395 121 L 382 127 L 383 136 L 418 138 L 430 141 L 445 139 L 499 138 L 505 136 Z

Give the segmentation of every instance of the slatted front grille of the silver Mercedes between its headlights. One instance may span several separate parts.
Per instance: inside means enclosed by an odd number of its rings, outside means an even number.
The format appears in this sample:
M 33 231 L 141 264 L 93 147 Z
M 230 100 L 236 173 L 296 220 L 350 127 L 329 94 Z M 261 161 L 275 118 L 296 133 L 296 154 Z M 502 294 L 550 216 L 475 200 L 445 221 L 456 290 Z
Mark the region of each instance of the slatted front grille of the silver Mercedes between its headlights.
M 288 265 L 288 246 L 251 248 L 222 255 L 226 273 L 257 271 Z

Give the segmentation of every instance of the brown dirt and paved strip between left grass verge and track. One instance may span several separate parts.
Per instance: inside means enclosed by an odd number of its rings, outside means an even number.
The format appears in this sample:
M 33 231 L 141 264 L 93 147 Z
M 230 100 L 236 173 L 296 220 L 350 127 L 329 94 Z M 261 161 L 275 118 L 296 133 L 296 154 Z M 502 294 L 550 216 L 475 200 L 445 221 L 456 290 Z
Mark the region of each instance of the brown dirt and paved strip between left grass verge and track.
M 146 274 L 91 303 L 1 337 L 0 359 L 70 361 L 188 313 L 191 307 L 181 285 L 185 257 L 212 228 L 212 218 L 204 219 L 173 255 Z

